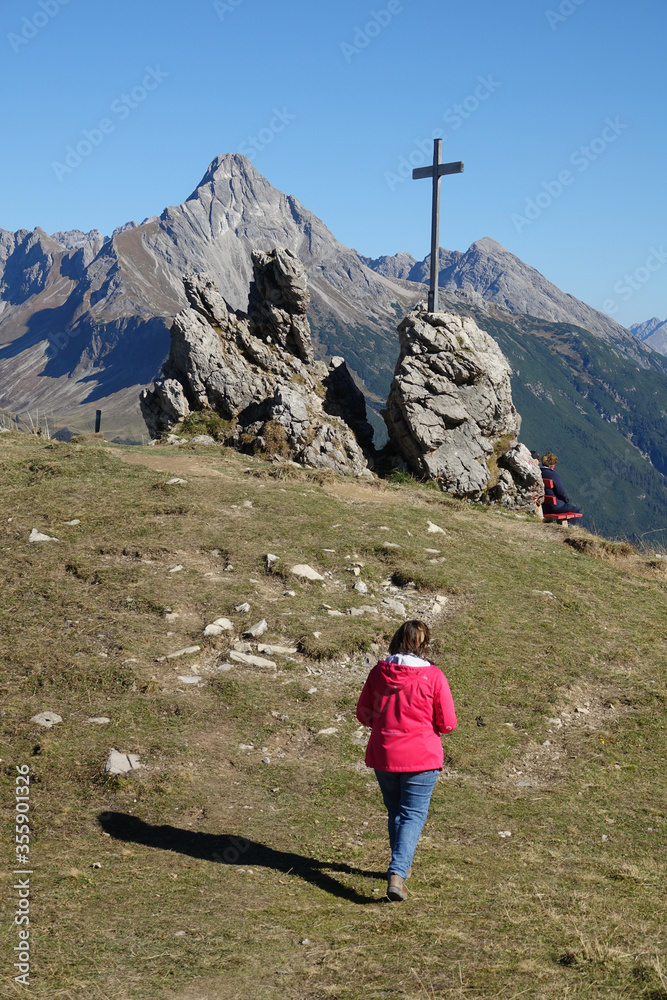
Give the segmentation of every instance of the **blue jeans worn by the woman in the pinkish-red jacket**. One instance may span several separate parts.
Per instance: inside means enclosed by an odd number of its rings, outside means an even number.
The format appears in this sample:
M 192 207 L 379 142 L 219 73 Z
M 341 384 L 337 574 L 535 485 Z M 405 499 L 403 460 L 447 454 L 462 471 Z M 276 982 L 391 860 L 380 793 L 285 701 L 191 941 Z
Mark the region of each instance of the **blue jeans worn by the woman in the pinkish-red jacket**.
M 405 878 L 424 828 L 438 771 L 376 771 L 387 809 L 389 872 Z

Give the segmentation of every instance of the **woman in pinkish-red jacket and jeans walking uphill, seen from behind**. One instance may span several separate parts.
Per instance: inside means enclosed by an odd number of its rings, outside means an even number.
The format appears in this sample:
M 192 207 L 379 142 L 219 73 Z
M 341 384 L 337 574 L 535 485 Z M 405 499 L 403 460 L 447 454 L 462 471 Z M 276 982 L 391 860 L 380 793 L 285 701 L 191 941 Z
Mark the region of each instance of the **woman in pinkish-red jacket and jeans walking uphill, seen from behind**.
M 408 896 L 404 882 L 445 756 L 440 737 L 456 728 L 447 679 L 423 658 L 430 641 L 424 622 L 401 625 L 390 655 L 373 667 L 357 704 L 359 722 L 371 727 L 366 765 L 375 769 L 387 809 L 387 896 L 395 902 Z

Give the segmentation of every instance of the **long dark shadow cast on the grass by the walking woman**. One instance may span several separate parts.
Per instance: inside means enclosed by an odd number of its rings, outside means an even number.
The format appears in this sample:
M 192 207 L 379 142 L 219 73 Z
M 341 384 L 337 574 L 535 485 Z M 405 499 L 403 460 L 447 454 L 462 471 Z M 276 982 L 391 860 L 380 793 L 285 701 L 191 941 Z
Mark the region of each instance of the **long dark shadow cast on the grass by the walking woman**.
M 126 813 L 103 812 L 98 816 L 100 826 L 115 840 L 133 844 L 144 844 L 162 851 L 186 854 L 202 861 L 213 861 L 222 865 L 256 865 L 258 868 L 272 868 L 285 875 L 299 878 L 316 885 L 319 889 L 346 899 L 350 903 L 362 905 L 380 903 L 382 899 L 361 896 L 356 890 L 338 882 L 323 869 L 342 875 L 363 875 L 366 878 L 386 878 L 384 872 L 367 872 L 361 868 L 338 862 L 317 861 L 291 851 L 276 851 L 266 844 L 236 837 L 231 834 L 199 833 L 181 830 L 176 826 L 151 826 L 136 816 Z

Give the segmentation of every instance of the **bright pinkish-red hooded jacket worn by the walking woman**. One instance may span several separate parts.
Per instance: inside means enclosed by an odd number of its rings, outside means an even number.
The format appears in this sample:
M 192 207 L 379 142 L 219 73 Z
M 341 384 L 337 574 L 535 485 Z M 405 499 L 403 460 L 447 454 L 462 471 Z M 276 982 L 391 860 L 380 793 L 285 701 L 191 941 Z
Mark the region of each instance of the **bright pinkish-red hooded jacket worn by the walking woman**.
M 447 678 L 432 663 L 398 654 L 371 670 L 357 704 L 371 727 L 366 765 L 378 771 L 442 770 L 440 736 L 456 728 Z

